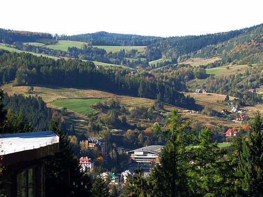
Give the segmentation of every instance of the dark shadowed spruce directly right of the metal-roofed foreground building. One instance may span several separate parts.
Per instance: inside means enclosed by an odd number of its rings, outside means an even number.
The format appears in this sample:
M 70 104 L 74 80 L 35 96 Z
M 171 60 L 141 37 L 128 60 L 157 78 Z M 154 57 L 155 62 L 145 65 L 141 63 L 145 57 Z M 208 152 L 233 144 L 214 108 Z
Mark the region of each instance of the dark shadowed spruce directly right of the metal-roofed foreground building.
M 81 191 L 81 194 L 89 196 L 90 179 L 80 170 L 78 158 L 74 155 L 68 135 L 62 131 L 60 121 L 52 119 L 49 129 L 59 135 L 59 152 L 47 156 L 45 160 L 46 196 L 68 196 L 72 193 L 73 182 L 75 184 L 82 182 L 83 185 L 87 185 L 87 190 Z

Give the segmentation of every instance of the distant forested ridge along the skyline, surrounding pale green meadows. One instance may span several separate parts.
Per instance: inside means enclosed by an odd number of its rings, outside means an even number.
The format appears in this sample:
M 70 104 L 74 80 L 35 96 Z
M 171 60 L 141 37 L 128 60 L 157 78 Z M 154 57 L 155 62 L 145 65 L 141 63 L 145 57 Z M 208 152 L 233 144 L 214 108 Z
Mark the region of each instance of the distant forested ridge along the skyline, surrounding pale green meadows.
M 38 42 L 52 45 L 57 40 L 74 40 L 85 42 L 81 49 L 69 47 L 67 51 L 53 50 L 47 46 L 33 46 L 23 42 Z M 253 64 L 261 61 L 263 52 L 263 25 L 235 30 L 225 33 L 200 36 L 154 37 L 111 34 L 97 32 L 75 36 L 55 35 L 32 32 L 18 32 L 0 29 L 0 42 L 8 47 L 39 54 L 79 58 L 90 61 L 118 64 L 131 68 L 159 68 L 162 65 L 149 67 L 149 62 L 164 59 L 181 63 L 189 58 L 220 57 L 209 66 L 218 67 L 223 64 Z M 147 46 L 143 52 L 123 51 L 106 53 L 92 46 Z M 136 57 L 136 58 L 135 58 Z M 132 58 L 132 59 L 127 59 Z M 138 59 L 141 58 L 141 59 Z

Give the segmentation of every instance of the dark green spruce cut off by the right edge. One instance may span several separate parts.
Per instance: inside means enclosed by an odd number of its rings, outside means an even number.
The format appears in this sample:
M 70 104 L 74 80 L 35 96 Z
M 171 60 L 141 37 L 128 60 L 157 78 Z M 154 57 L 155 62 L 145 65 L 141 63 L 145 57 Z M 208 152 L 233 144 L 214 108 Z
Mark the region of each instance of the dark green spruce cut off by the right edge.
M 257 111 L 252 125 L 252 133 L 247 133 L 233 141 L 233 155 L 237 162 L 236 174 L 244 190 L 244 196 L 263 196 L 263 120 Z

